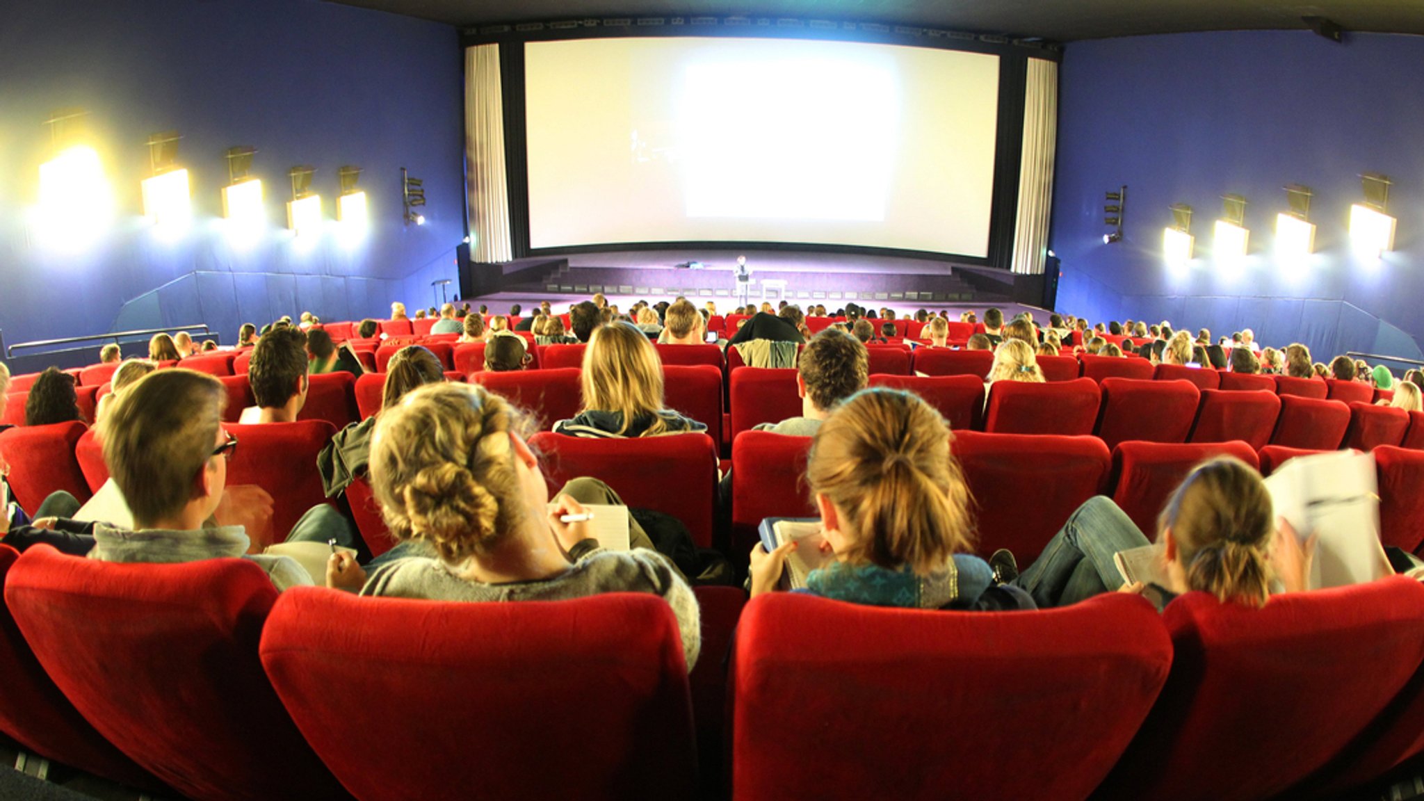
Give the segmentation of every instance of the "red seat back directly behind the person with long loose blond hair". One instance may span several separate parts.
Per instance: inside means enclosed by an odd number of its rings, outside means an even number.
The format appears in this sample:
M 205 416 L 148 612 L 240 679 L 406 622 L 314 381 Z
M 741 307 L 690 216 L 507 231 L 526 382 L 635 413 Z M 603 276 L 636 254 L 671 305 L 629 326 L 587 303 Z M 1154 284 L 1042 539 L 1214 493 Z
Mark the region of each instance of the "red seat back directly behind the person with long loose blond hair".
M 712 547 L 718 475 L 711 436 L 582 439 L 541 432 L 530 445 L 544 452 L 551 490 L 580 476 L 601 479 L 628 506 L 671 515 L 682 520 L 698 547 Z

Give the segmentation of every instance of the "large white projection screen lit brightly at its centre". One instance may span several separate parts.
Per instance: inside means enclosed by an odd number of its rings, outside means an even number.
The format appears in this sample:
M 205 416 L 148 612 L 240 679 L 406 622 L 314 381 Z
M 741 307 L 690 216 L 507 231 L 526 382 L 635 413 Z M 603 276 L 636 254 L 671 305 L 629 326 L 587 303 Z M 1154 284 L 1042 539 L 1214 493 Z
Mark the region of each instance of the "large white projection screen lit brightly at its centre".
M 843 41 L 527 43 L 530 247 L 987 257 L 998 56 Z

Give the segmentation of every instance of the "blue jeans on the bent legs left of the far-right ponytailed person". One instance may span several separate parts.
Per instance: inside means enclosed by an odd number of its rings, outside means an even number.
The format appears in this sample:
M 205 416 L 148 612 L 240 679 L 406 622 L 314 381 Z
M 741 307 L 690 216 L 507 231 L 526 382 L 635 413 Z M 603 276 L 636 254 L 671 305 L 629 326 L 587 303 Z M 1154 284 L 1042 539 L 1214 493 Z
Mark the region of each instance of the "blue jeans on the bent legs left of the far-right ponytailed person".
M 1089 497 L 1014 582 L 1040 609 L 1068 606 L 1122 586 L 1112 556 L 1151 544 L 1111 497 Z

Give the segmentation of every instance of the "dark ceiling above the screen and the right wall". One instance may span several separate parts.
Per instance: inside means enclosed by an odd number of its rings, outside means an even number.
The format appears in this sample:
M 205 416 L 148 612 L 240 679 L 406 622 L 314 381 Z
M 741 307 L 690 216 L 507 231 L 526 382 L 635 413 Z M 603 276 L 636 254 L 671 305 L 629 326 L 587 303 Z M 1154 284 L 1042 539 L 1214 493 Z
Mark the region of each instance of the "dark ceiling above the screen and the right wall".
M 887 23 L 1074 41 L 1198 30 L 1294 29 L 1424 34 L 1424 0 L 328 0 L 457 27 L 604 17 L 779 17 Z M 1346 34 L 1349 36 L 1349 33 Z

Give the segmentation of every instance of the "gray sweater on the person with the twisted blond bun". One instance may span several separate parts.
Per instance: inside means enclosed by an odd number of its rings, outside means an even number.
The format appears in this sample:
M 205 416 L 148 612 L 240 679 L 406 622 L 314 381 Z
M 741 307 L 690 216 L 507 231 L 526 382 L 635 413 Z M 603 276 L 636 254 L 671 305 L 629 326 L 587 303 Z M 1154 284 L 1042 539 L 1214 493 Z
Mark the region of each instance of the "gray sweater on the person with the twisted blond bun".
M 390 596 L 441 601 L 570 600 L 598 593 L 649 593 L 662 596 L 678 619 L 682 656 L 688 670 L 702 648 L 702 621 L 692 587 L 678 576 L 666 556 L 655 550 L 594 549 L 562 574 L 540 582 L 486 584 L 456 576 L 439 559 L 413 556 L 382 564 L 366 579 L 363 596 Z

